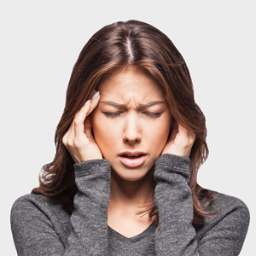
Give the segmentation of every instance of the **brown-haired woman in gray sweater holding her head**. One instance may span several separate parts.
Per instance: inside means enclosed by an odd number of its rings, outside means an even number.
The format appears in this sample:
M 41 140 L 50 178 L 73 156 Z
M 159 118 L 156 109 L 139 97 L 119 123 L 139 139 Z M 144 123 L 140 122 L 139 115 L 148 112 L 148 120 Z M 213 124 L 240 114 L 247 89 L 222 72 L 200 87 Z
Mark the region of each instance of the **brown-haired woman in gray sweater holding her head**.
M 19 255 L 238 255 L 243 201 L 196 182 L 207 129 L 169 38 L 129 20 L 82 49 L 40 186 L 12 208 Z

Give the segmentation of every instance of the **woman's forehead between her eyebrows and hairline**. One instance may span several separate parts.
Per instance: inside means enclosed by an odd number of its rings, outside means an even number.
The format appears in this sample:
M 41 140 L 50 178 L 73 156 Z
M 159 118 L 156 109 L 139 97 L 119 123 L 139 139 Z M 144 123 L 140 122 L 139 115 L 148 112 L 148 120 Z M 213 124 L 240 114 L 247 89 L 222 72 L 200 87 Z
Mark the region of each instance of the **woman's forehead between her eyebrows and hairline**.
M 125 68 L 115 71 L 98 85 L 101 99 L 119 102 L 152 101 L 165 99 L 164 91 L 156 79 L 143 70 Z

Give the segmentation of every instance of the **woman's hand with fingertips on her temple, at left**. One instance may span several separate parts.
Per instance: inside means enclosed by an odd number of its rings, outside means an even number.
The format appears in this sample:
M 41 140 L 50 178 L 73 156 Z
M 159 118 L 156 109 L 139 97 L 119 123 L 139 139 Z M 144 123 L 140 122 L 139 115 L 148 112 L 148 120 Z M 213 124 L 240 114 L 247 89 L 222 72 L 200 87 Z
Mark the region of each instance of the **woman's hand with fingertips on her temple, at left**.
M 100 100 L 99 95 L 96 99 L 94 97 L 96 94 L 90 102 L 87 101 L 87 105 L 85 102 L 84 106 L 76 113 L 67 133 L 62 138 L 62 143 L 66 146 L 75 163 L 102 159 L 102 152 L 91 133 L 92 125 L 89 114 L 96 108 Z

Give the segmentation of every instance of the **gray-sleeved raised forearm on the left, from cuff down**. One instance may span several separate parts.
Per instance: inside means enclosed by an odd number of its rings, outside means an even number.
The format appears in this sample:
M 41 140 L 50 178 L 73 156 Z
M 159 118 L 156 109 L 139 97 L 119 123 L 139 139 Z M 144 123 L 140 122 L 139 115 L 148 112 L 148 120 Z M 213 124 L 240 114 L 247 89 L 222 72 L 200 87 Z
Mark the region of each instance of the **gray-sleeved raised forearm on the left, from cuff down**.
M 90 160 L 75 164 L 74 169 L 79 190 L 70 218 L 73 230 L 68 237 L 69 247 L 88 255 L 107 255 L 110 162 Z

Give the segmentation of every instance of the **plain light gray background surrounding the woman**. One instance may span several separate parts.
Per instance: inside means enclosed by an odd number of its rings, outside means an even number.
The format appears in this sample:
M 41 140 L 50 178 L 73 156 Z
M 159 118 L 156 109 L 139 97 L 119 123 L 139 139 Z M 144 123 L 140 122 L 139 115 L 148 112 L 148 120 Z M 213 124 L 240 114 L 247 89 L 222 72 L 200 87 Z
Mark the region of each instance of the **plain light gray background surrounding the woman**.
M 1 24 L 1 251 L 16 255 L 10 208 L 38 186 L 80 50 L 102 26 L 142 20 L 171 38 L 189 66 L 207 117 L 207 189 L 247 204 L 255 230 L 255 7 L 253 1 L 3 1 Z M 3 254 L 0 253 L 0 254 Z

